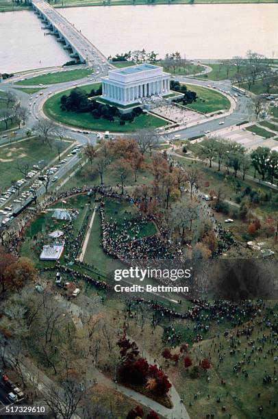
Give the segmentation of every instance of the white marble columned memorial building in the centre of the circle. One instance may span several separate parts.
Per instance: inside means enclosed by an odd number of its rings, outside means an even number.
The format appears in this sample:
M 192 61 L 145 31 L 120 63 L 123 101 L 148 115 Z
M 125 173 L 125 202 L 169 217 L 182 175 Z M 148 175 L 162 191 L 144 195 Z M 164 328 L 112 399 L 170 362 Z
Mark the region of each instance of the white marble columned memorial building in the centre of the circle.
M 133 105 L 142 99 L 154 95 L 164 96 L 170 93 L 170 75 L 163 68 L 153 64 L 111 70 L 108 77 L 103 77 L 102 98 L 118 103 Z

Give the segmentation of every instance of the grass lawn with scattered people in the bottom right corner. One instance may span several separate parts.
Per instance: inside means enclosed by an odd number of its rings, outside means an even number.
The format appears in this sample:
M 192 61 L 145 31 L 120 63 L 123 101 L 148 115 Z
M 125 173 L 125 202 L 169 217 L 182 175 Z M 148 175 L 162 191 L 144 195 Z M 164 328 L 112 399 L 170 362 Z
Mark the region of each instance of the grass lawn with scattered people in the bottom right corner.
M 277 307 L 275 307 L 274 314 L 277 316 Z M 263 312 L 264 315 L 269 316 L 269 312 Z M 273 315 L 270 315 L 270 319 L 273 318 Z M 173 326 L 176 328 L 178 322 L 175 320 L 173 323 Z M 183 322 L 184 327 L 188 323 L 188 321 Z M 242 330 L 243 327 L 239 329 Z M 266 329 L 268 328 L 264 327 L 263 331 L 260 331 L 260 327 L 255 325 L 251 339 L 255 342 L 257 342 L 258 338 L 262 339 Z M 230 334 L 236 334 L 237 328 L 233 329 L 230 326 L 227 330 L 229 330 Z M 202 372 L 200 377 L 192 378 L 190 374 L 192 367 L 186 370 L 181 365 L 182 361 L 179 361 L 179 366 L 171 364 L 170 368 L 166 368 L 166 374 L 173 380 L 179 395 L 184 399 L 184 404 L 188 409 L 190 417 L 203 418 L 204 413 L 209 412 L 214 414 L 215 418 L 229 418 L 228 415 L 231 414 L 232 418 L 238 419 L 257 419 L 262 417 L 275 419 L 277 417 L 277 409 L 273 406 L 273 401 L 277 400 L 277 385 L 275 383 L 268 385 L 262 383 L 264 370 L 273 377 L 273 366 L 275 363 L 273 362 L 273 356 L 268 355 L 268 351 L 272 347 L 271 342 L 267 341 L 264 344 L 263 353 L 257 356 L 256 351 L 251 353 L 250 340 L 240 336 L 240 344 L 237 345 L 238 351 L 236 350 L 234 355 L 230 355 L 230 341 L 220 332 L 221 327 L 216 327 L 214 340 L 204 335 L 203 342 L 194 344 L 190 348 L 188 355 L 192 359 L 193 365 L 199 364 L 198 359 L 210 357 L 211 368 L 206 374 Z M 219 347 L 223 349 L 219 351 Z M 249 374 L 247 378 L 244 377 L 242 371 L 238 374 L 233 372 L 233 366 L 244 360 L 243 353 L 245 351 L 248 354 L 247 356 L 251 355 L 251 362 L 245 361 L 243 366 L 243 369 L 246 369 Z M 221 355 L 225 354 L 223 355 L 223 362 L 219 362 L 220 353 Z M 207 383 L 207 377 L 210 377 L 210 383 Z M 221 380 L 225 381 L 225 385 L 221 384 Z M 258 393 L 261 394 L 260 399 L 257 398 Z M 195 394 L 197 396 L 194 396 Z M 216 403 L 217 397 L 220 397 L 220 403 Z M 269 400 L 272 401 L 271 404 L 268 402 Z M 257 409 L 259 405 L 264 406 L 263 416 Z M 225 412 L 221 410 L 223 406 L 225 406 Z

